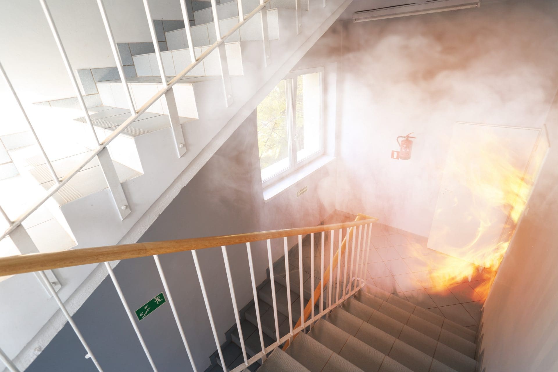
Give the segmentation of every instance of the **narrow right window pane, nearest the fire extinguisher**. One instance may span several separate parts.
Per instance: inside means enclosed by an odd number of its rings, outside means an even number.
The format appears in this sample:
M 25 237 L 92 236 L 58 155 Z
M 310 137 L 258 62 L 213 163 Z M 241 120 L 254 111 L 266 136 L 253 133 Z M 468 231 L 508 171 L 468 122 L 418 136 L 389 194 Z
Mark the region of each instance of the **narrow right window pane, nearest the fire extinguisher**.
M 296 160 L 321 151 L 321 73 L 296 79 Z

